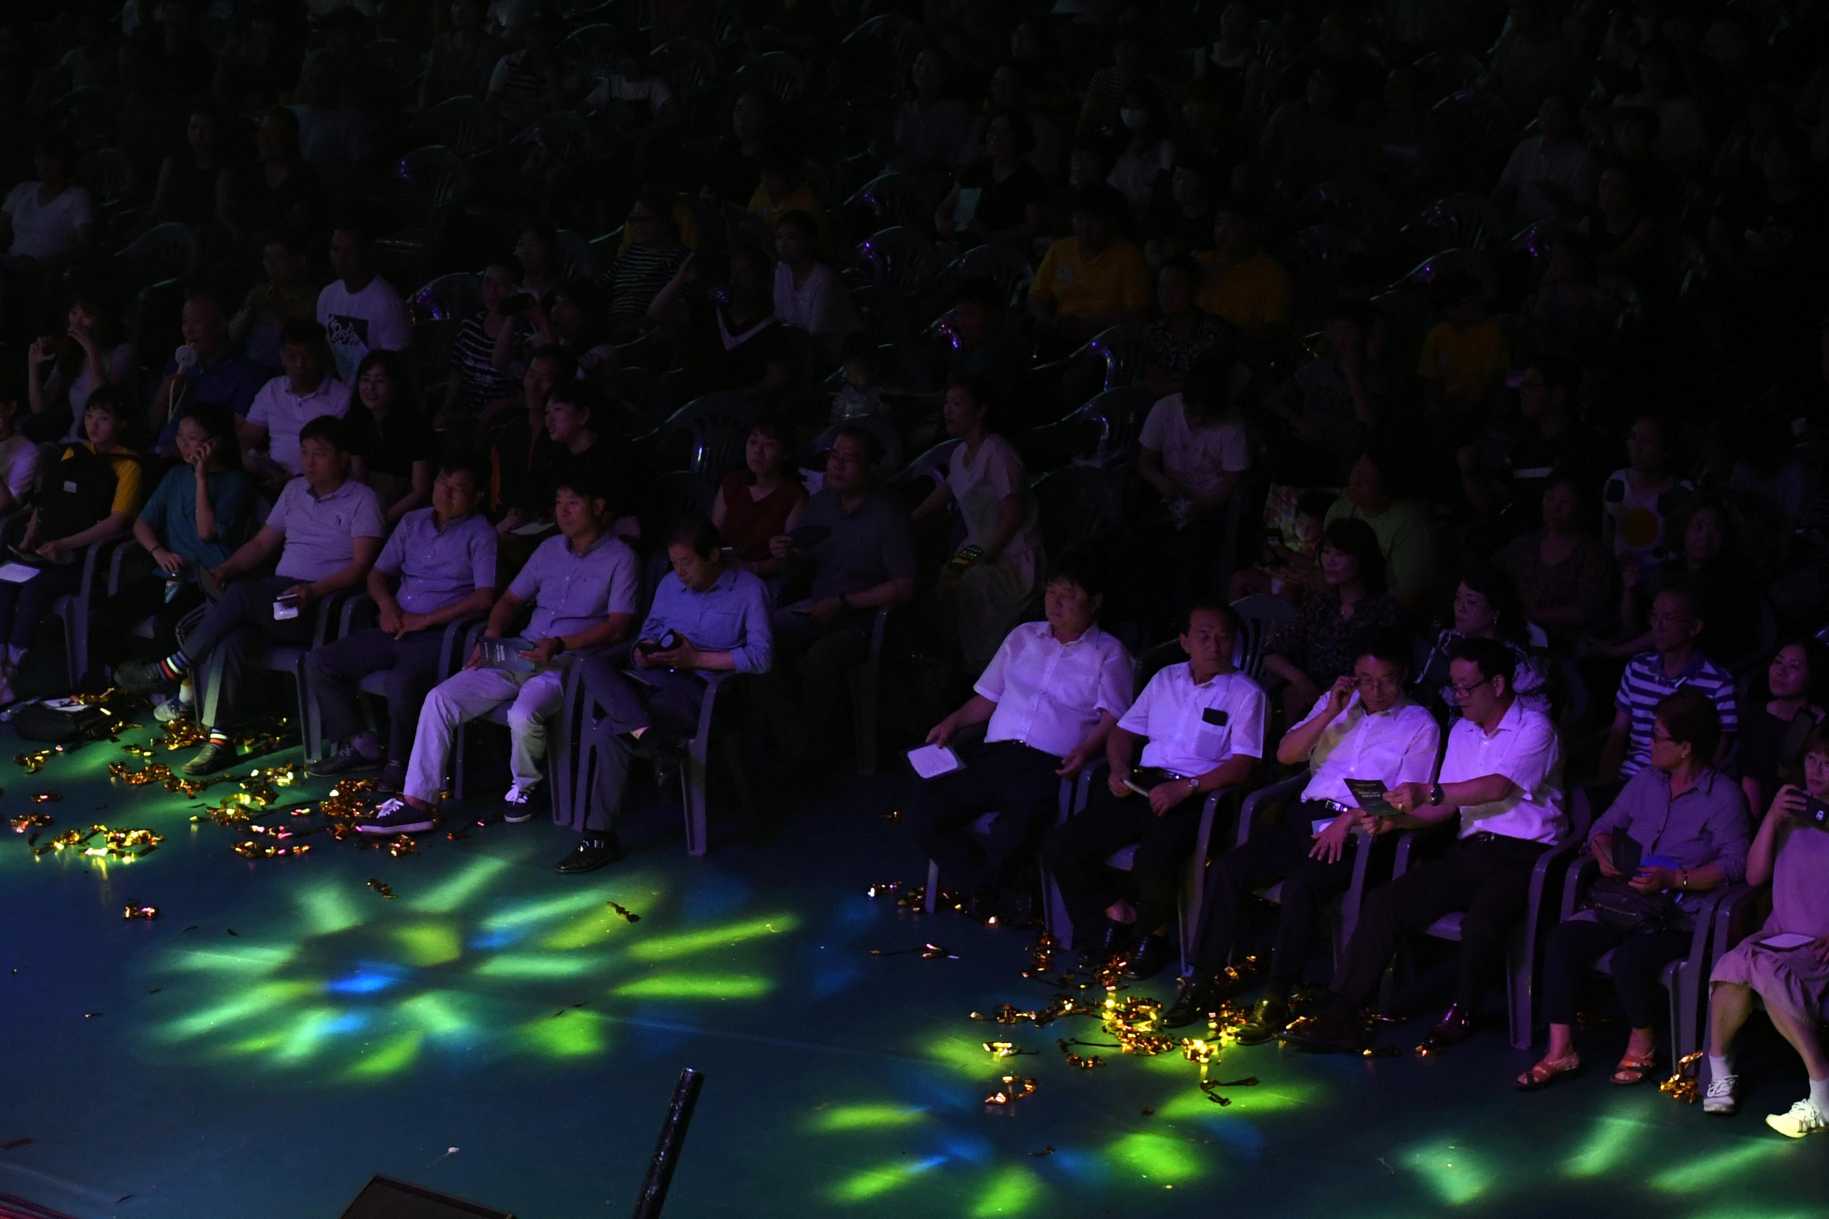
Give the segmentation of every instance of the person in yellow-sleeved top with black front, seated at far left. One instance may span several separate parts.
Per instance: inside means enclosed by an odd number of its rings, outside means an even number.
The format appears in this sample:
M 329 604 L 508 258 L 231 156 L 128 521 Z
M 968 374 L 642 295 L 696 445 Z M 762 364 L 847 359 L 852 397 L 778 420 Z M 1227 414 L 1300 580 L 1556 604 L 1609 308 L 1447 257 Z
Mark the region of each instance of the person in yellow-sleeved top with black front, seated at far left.
M 66 448 L 40 479 L 38 506 L 18 543 L 18 556 L 38 570 L 0 581 L 0 704 L 13 702 L 13 676 L 51 603 L 82 585 L 82 548 L 124 532 L 139 514 L 146 497 L 139 455 L 121 444 L 132 409 L 124 389 L 95 389 L 82 411 L 88 440 Z

